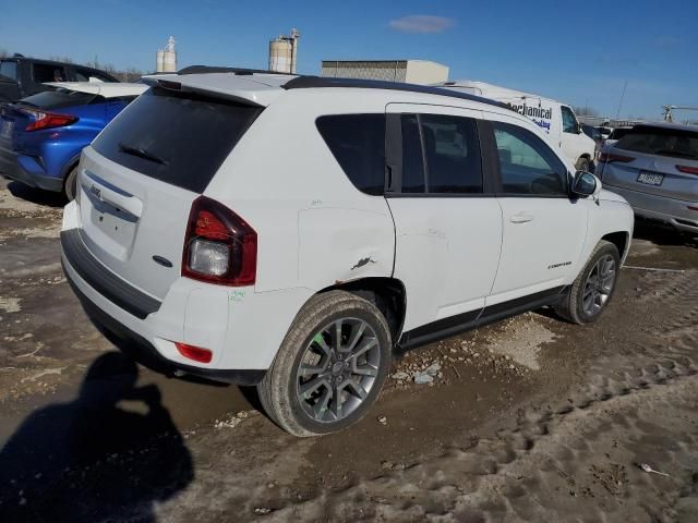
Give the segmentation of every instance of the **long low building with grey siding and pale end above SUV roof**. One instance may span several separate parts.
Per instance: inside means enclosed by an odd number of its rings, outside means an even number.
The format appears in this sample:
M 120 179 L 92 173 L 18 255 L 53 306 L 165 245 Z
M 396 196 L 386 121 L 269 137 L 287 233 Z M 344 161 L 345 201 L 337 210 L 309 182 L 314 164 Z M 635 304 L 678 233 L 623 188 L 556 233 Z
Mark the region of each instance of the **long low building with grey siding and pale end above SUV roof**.
M 323 60 L 322 76 L 436 84 L 448 80 L 448 66 L 429 60 Z

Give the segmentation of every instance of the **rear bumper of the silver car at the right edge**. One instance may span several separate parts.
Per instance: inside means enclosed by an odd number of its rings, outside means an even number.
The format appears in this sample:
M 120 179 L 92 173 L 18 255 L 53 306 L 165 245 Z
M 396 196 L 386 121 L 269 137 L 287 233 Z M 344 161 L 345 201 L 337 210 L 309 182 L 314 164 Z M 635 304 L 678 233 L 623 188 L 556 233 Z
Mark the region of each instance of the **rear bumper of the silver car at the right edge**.
M 609 184 L 604 184 L 604 187 L 627 199 L 638 216 L 669 223 L 682 231 L 698 232 L 698 211 L 688 208 L 698 208 L 698 202 L 669 198 Z

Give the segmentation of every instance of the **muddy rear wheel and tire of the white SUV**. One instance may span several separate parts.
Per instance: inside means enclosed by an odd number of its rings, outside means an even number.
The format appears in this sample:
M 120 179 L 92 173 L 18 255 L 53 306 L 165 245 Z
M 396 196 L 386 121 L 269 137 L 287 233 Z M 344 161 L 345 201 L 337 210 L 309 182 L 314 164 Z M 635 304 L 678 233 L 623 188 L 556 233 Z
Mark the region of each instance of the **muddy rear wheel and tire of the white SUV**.
M 317 294 L 296 316 L 257 385 L 262 406 L 296 436 L 347 428 L 378 397 L 392 348 L 388 324 L 373 303 L 345 291 Z

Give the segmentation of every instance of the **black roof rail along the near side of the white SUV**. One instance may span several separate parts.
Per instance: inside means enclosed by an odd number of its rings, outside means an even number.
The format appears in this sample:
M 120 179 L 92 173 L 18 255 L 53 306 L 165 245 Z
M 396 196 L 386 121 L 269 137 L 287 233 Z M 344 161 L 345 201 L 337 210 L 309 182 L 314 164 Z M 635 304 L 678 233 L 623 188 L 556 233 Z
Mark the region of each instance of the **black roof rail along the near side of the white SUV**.
M 406 84 L 402 82 L 386 82 L 383 80 L 360 80 L 360 78 L 336 78 L 329 76 L 297 76 L 281 87 L 285 89 L 308 89 L 313 87 L 354 87 L 362 89 L 389 89 L 406 90 L 409 93 L 423 93 L 428 95 L 448 96 L 450 98 L 460 98 L 464 100 L 478 101 L 489 106 L 496 106 L 508 109 L 506 104 L 495 101 L 481 96 L 469 95 L 441 87 L 432 87 L 429 85 Z

